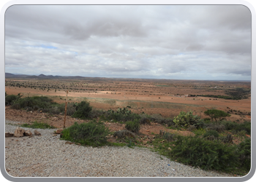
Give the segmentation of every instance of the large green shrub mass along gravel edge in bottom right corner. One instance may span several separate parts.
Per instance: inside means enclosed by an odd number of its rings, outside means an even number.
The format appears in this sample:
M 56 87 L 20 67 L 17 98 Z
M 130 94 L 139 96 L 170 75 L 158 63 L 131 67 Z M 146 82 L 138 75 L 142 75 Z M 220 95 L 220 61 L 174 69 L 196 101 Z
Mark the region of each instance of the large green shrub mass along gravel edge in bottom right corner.
M 164 142 L 162 142 L 163 139 L 165 139 Z M 220 140 L 211 141 L 200 136 L 181 136 L 160 132 L 153 145 L 154 150 L 159 154 L 203 170 L 245 175 L 251 166 L 249 138 L 235 145 Z

